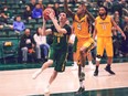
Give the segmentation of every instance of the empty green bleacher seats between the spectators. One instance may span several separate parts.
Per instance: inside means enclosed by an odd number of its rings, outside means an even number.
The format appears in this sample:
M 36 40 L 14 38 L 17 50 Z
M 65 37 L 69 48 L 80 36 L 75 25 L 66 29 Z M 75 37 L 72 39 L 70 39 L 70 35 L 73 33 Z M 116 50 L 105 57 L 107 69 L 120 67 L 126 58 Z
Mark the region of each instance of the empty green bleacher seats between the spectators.
M 17 1 L 17 2 L 14 2 Z M 36 28 L 42 26 L 42 19 L 39 20 L 23 20 L 23 12 L 25 7 L 30 3 L 30 0 L 25 0 L 25 3 L 22 3 L 21 0 L 0 0 L 0 2 L 2 3 L 2 6 L 7 6 L 9 8 L 9 11 L 13 14 L 13 18 L 17 15 L 21 15 L 22 17 L 22 21 L 25 24 L 25 28 L 29 28 L 31 30 L 31 33 L 34 34 Z M 43 4 L 49 4 L 49 0 L 43 0 Z M 53 2 L 51 2 L 52 7 L 54 6 Z M 71 10 L 73 10 L 74 12 L 76 12 L 76 8 L 79 6 L 79 2 L 77 2 L 75 6 L 73 6 L 72 3 L 68 3 L 68 7 L 71 8 Z M 60 2 L 60 10 L 64 10 L 63 7 L 63 2 Z M 96 12 L 95 10 L 92 8 L 89 9 L 89 11 L 95 15 Z M 12 19 L 13 19 L 12 18 Z M 73 20 L 71 18 L 68 18 L 70 22 L 72 22 Z M 9 20 L 8 24 L 13 24 L 13 20 Z M 50 28 L 52 24 L 51 21 L 47 21 L 46 23 L 46 28 Z M 6 40 L 12 40 L 15 41 L 15 46 L 19 45 L 19 39 L 20 35 L 15 34 L 13 30 L 9 29 L 8 26 L 6 26 L 4 29 L 0 30 L 0 43 L 6 41 Z M 2 53 L 0 53 L 0 58 Z

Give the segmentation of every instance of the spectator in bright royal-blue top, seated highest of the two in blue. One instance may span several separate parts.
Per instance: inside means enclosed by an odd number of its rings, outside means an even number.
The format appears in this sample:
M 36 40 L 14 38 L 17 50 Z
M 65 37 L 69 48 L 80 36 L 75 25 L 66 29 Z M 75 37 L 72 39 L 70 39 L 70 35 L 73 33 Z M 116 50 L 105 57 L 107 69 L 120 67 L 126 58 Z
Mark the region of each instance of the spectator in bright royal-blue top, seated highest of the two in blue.
M 36 3 L 35 8 L 32 11 L 32 18 L 33 19 L 42 18 L 42 8 L 39 3 Z

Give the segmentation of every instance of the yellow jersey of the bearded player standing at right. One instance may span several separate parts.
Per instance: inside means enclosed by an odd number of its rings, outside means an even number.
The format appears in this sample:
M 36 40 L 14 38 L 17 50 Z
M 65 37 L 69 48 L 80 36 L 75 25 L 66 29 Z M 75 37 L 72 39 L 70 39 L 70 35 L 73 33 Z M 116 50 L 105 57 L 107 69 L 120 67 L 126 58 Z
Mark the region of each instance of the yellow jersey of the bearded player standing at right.
M 110 15 L 107 15 L 105 20 L 97 17 L 95 26 L 97 30 L 97 36 L 111 36 L 113 24 Z

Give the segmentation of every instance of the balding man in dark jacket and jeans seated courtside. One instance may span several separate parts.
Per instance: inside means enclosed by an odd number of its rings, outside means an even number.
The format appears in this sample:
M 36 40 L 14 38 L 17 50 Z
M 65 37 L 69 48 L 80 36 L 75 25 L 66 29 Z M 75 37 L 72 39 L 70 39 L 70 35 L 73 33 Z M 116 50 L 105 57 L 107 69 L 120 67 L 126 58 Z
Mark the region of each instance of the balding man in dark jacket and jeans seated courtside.
M 35 41 L 33 36 L 31 35 L 30 29 L 25 29 L 24 34 L 21 36 L 20 40 L 20 50 L 22 52 L 22 62 L 28 62 L 28 53 L 32 54 L 32 57 L 34 57 L 34 47 L 35 47 Z

